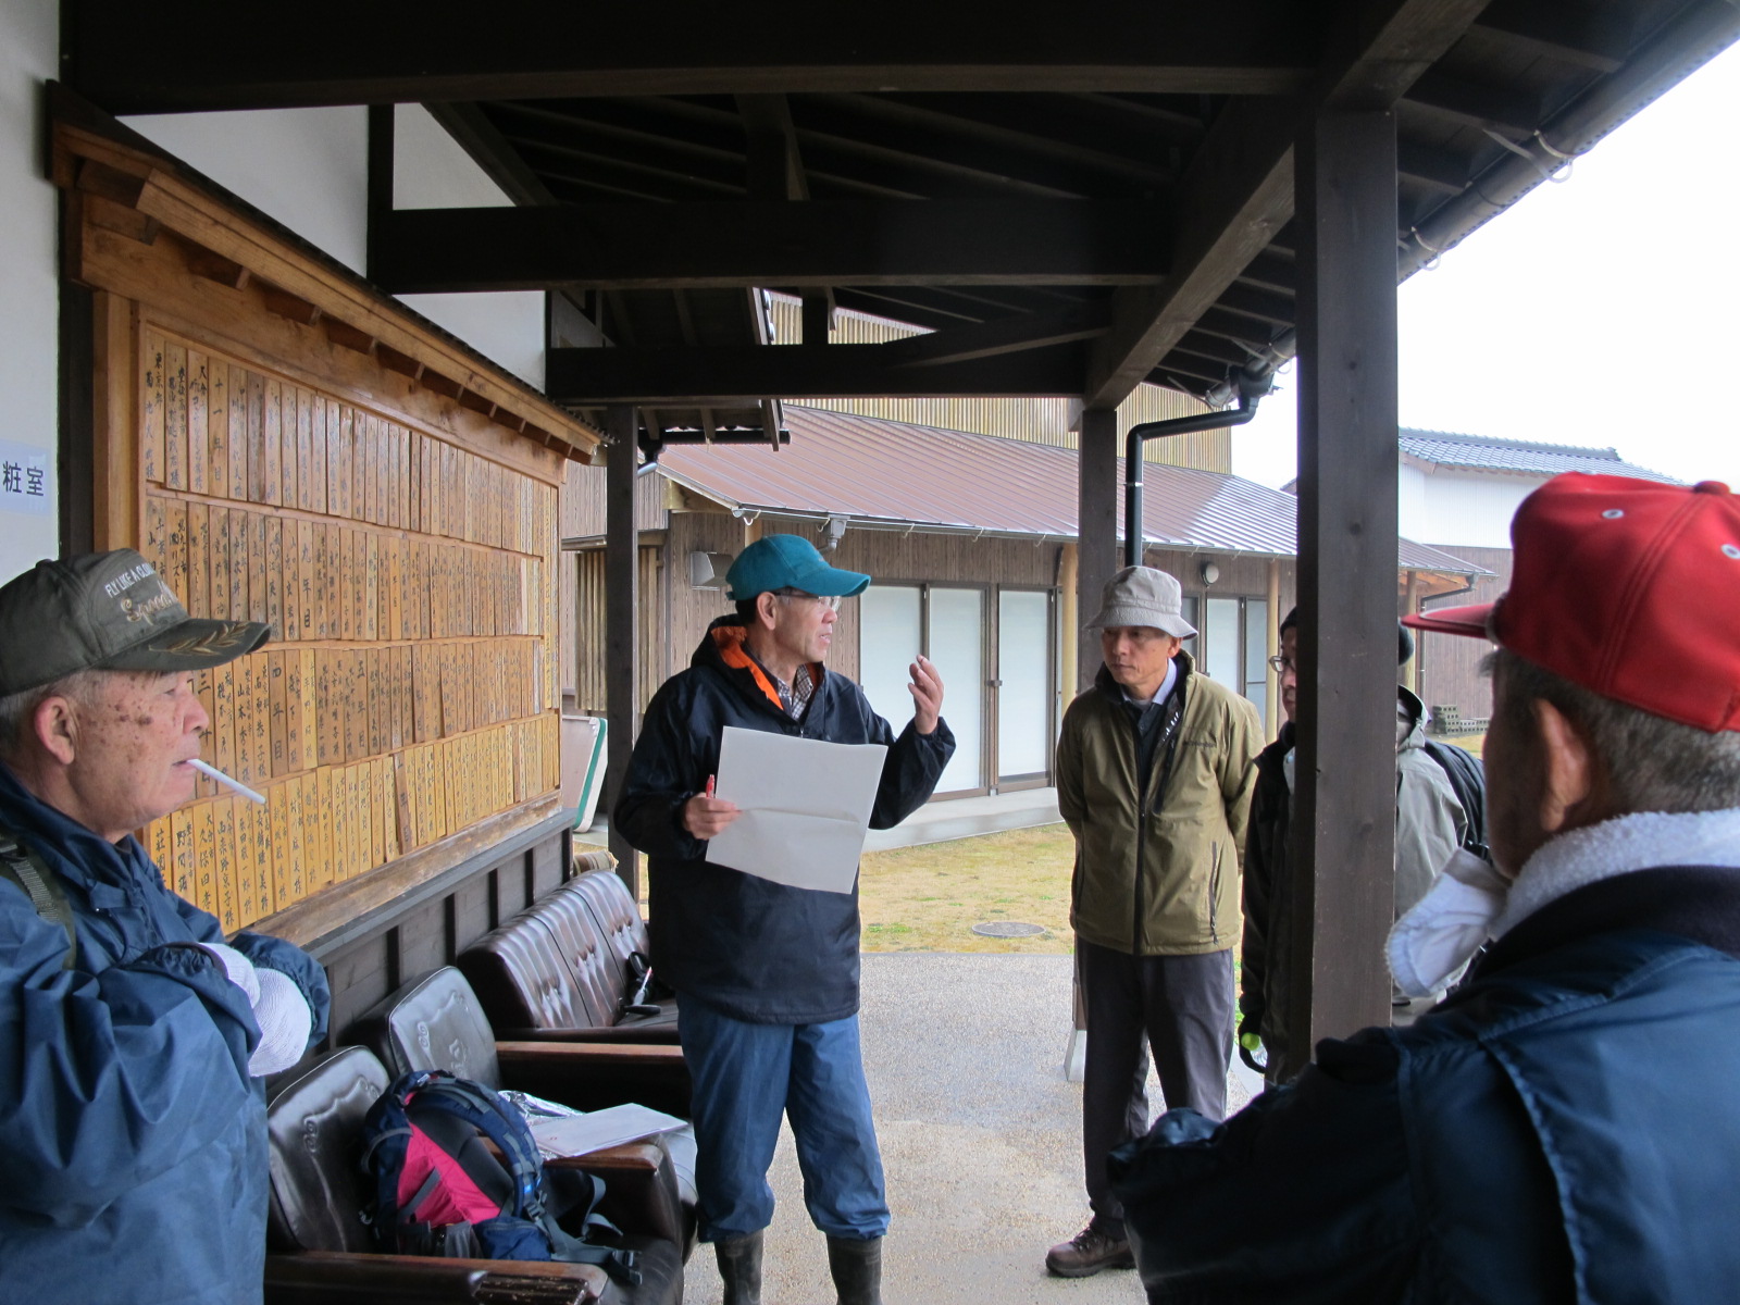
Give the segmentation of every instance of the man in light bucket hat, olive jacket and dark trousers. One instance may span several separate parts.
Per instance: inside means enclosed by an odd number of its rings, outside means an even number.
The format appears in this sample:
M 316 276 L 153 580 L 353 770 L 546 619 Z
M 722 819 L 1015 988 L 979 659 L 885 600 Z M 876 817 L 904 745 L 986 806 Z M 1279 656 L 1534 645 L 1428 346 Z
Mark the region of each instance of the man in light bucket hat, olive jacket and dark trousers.
M 1195 628 L 1173 576 L 1124 567 L 1088 628 L 1105 665 L 1063 715 L 1058 807 L 1075 835 L 1093 1218 L 1046 1255 L 1060 1277 L 1134 1263 L 1105 1162 L 1148 1128 L 1143 1041 L 1168 1105 L 1227 1110 L 1239 861 L 1262 743 L 1256 708 L 1181 649 Z

